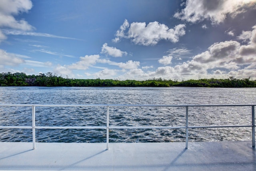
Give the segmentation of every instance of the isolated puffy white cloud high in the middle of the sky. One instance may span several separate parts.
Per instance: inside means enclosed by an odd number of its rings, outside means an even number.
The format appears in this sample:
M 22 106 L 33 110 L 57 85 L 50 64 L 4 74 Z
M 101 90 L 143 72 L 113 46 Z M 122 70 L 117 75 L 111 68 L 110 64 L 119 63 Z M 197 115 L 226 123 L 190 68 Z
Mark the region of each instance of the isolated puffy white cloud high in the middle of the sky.
M 129 28 L 130 26 L 130 28 Z M 120 38 L 131 39 L 134 44 L 140 44 L 144 46 L 156 45 L 160 40 L 168 40 L 176 43 L 179 41 L 179 37 L 185 34 L 185 24 L 179 24 L 174 28 L 168 28 L 165 24 L 159 22 L 133 22 L 128 23 L 127 20 L 116 32 L 116 38 L 113 40 L 117 42 Z M 126 30 L 128 31 L 126 32 Z

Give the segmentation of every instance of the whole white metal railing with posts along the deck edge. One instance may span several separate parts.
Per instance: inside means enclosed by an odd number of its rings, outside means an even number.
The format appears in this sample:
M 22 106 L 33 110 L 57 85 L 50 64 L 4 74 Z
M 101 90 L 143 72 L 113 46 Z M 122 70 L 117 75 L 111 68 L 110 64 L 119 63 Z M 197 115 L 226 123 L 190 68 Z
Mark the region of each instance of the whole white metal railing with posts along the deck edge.
M 221 127 L 252 127 L 252 147 L 255 147 L 255 117 L 254 107 L 256 104 L 231 104 L 231 105 L 56 105 L 56 104 L 0 104 L 0 106 L 22 106 L 32 107 L 32 126 L 2 126 L 0 129 L 32 129 L 33 149 L 36 148 L 36 129 L 106 129 L 106 145 L 109 144 L 109 129 L 186 129 L 186 148 L 188 148 L 188 129 L 189 128 L 221 128 Z M 252 124 L 251 125 L 188 125 L 188 107 L 252 107 Z M 36 126 L 35 107 L 106 107 L 106 126 Z M 186 109 L 186 125 L 184 126 L 109 126 L 109 107 L 184 107 Z M 0 118 L 1 119 L 1 118 Z

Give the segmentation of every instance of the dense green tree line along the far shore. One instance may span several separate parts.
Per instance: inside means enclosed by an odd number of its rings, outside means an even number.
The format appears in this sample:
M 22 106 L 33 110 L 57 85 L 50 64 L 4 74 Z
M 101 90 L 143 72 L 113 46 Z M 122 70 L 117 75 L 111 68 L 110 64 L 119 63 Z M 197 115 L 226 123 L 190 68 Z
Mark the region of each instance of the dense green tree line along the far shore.
M 27 76 L 25 73 L 1 73 L 0 86 L 47 86 L 47 87 L 256 87 L 256 80 L 245 78 L 242 80 L 230 77 L 228 79 L 200 79 L 178 82 L 177 80 L 162 80 L 153 78 L 146 81 L 136 80 L 101 80 L 71 79 L 56 76 L 51 72 L 38 76 Z

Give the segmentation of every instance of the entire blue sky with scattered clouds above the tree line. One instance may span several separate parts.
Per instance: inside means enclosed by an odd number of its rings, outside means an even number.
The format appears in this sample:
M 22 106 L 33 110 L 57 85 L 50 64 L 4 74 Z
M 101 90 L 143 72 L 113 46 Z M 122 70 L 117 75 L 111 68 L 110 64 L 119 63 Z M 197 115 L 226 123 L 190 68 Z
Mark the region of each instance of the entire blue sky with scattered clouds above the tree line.
M 256 0 L 0 0 L 0 73 L 256 80 Z

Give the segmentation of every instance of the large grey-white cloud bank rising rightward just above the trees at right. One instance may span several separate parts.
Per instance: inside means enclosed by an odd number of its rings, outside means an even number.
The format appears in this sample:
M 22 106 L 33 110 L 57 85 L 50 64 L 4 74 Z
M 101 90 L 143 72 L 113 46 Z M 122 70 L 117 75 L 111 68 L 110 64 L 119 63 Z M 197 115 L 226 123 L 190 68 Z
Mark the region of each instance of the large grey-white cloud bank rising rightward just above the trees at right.
M 190 80 L 201 78 L 228 78 L 237 79 L 251 77 L 256 79 L 256 26 L 252 27 L 247 44 L 241 45 L 237 41 L 216 42 L 205 52 L 193 56 L 191 60 L 176 66 L 158 67 L 155 71 L 144 72 L 139 68 L 129 70 L 124 76 L 128 78 L 166 78 Z M 179 51 L 176 49 L 177 52 Z M 172 52 L 176 52 L 172 50 Z M 168 59 L 163 57 L 161 60 Z M 159 60 L 159 61 L 161 61 Z M 166 60 L 166 64 L 170 60 Z M 246 67 L 244 67 L 246 66 Z M 242 69 L 243 68 L 243 69 Z

